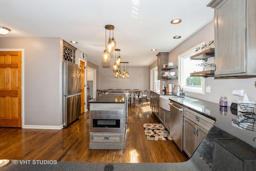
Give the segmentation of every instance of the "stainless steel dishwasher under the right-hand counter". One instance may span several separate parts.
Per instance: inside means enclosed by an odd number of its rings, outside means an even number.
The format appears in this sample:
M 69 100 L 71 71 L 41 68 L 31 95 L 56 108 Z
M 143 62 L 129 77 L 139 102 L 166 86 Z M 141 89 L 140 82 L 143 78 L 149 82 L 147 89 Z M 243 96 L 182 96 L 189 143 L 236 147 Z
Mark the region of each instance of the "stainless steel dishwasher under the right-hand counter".
M 183 137 L 183 106 L 171 101 L 170 105 L 170 136 L 182 151 Z

